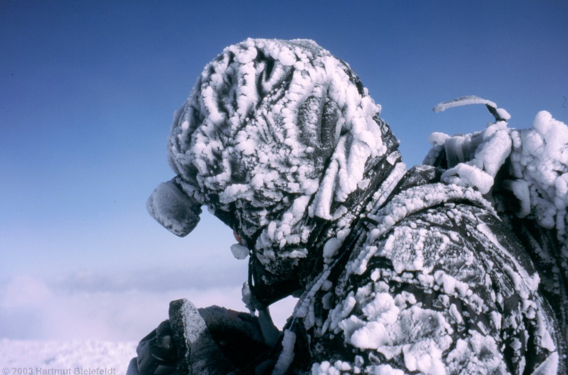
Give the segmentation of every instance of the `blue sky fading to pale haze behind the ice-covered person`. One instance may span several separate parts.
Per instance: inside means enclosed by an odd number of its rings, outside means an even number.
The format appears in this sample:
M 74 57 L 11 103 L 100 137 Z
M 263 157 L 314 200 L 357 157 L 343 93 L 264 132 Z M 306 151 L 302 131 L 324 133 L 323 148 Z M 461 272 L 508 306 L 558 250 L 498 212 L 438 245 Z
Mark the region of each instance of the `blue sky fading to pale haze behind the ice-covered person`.
M 145 209 L 173 176 L 173 111 L 226 45 L 314 39 L 359 74 L 414 165 L 431 132 L 491 120 L 482 106 L 432 112 L 461 95 L 498 103 L 513 127 L 539 110 L 568 123 L 566 20 L 561 1 L 0 0 L 0 338 L 74 338 L 48 327 L 87 298 L 101 311 L 76 327 L 105 328 L 81 338 L 136 339 L 168 298 L 222 303 L 214 291 L 240 287 L 231 231 L 206 216 L 178 239 Z M 148 327 L 131 323 L 137 303 Z M 112 326 L 107 305 L 130 320 Z

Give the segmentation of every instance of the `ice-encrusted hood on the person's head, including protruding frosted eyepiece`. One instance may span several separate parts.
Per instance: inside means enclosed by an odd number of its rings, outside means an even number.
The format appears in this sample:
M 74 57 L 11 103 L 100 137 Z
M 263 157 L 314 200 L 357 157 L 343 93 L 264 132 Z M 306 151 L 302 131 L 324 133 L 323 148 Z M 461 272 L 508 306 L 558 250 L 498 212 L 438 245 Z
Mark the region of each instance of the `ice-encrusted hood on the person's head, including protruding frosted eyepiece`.
M 177 177 L 158 186 L 148 209 L 184 236 L 207 205 L 274 276 L 259 274 L 257 284 L 270 284 L 318 237 L 344 238 L 337 232 L 385 172 L 379 161 L 399 160 L 380 110 L 349 65 L 314 41 L 231 45 L 174 115 L 168 157 Z

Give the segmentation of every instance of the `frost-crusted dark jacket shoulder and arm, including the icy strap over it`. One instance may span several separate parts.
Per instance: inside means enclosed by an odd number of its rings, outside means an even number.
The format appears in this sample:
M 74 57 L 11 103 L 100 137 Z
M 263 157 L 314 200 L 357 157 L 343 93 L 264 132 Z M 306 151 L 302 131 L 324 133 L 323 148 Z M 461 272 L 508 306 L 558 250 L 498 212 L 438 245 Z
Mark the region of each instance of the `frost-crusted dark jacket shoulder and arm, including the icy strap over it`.
M 423 184 L 435 176 L 411 170 L 354 229 L 349 257 L 300 298 L 289 329 L 305 332 L 295 352 L 310 357 L 295 372 L 563 373 L 554 314 L 519 241 L 477 191 Z

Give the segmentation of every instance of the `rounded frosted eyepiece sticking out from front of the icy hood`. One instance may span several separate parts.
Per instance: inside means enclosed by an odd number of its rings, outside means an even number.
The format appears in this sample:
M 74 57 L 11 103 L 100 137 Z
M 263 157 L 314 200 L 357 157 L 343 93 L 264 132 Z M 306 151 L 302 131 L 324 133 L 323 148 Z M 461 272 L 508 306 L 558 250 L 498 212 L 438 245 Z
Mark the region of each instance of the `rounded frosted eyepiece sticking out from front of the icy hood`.
M 199 223 L 201 203 L 189 197 L 176 183 L 176 178 L 162 182 L 152 192 L 146 207 L 150 215 L 174 235 L 188 235 Z

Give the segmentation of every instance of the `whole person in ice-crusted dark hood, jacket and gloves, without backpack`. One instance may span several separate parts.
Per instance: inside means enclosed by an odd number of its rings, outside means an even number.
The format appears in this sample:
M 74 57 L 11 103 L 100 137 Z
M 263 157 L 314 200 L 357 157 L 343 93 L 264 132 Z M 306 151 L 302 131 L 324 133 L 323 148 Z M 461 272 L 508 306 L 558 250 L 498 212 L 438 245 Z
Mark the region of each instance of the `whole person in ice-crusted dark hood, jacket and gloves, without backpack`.
M 506 127 L 489 107 L 500 128 L 478 144 Z M 310 40 L 248 39 L 205 67 L 174 116 L 176 177 L 148 209 L 178 236 L 203 205 L 231 227 L 258 318 L 174 301 L 129 374 L 566 372 L 565 319 L 551 307 L 565 301 L 548 300 L 536 244 L 499 218 L 491 181 L 471 183 L 497 171 L 471 140 L 471 155 L 453 159 L 442 135 L 435 166 L 407 170 L 380 111 L 349 65 Z M 460 163 L 477 172 L 457 173 Z M 268 306 L 291 294 L 298 305 L 277 332 Z

